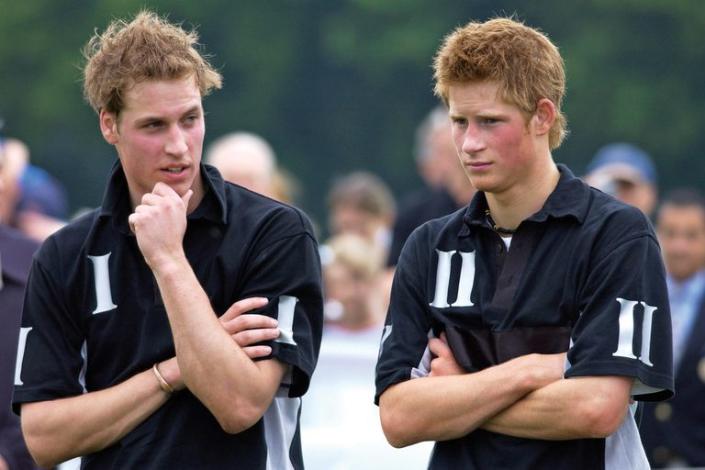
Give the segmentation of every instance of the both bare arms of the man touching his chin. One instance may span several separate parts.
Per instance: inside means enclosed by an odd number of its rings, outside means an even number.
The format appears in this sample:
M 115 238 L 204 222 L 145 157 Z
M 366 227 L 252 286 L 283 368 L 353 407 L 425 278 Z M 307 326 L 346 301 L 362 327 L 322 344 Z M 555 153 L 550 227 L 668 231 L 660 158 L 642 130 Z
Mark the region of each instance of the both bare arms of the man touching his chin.
M 286 366 L 276 359 L 253 361 L 271 352 L 253 344 L 277 337 L 276 320 L 242 313 L 264 306 L 251 298 L 217 318 L 183 252 L 186 207 L 158 183 L 142 198 L 130 224 L 157 280 L 174 338 L 176 356 L 159 364 L 175 390 L 188 388 L 225 432 L 255 424 L 271 403 Z M 96 452 L 115 443 L 169 399 L 151 370 L 113 387 L 75 397 L 25 403 L 22 428 L 41 466 Z

